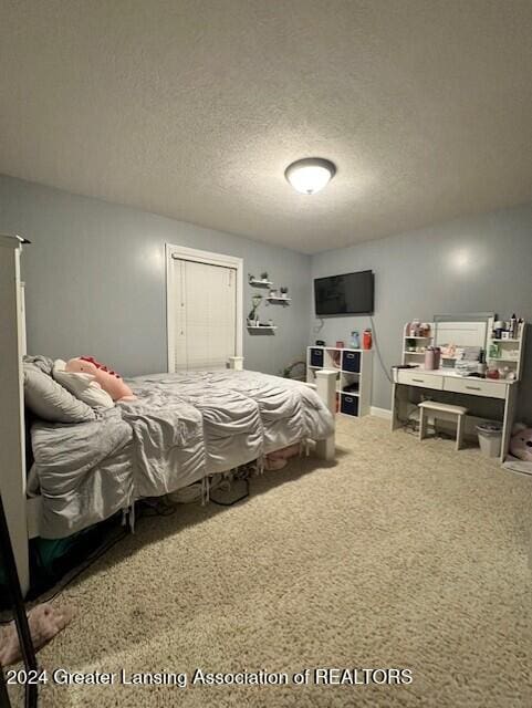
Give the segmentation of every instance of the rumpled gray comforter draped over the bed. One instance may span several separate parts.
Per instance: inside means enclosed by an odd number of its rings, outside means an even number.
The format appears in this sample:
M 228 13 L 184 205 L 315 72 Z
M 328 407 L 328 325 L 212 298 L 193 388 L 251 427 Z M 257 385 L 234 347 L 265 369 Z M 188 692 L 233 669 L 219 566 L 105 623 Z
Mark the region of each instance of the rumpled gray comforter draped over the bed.
M 334 429 L 312 388 L 258 372 L 156 374 L 127 384 L 135 400 L 94 421 L 33 425 L 31 479 L 42 497 L 43 538 L 64 538 L 136 499 Z

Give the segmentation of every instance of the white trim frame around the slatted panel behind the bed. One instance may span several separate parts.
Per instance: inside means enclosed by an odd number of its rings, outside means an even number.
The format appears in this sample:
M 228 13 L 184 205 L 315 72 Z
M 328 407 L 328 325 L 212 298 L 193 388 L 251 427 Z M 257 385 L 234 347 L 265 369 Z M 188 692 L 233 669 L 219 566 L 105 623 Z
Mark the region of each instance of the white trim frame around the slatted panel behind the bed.
M 211 251 L 201 251 L 196 248 L 187 248 L 185 246 L 175 246 L 166 243 L 166 335 L 167 335 L 167 365 L 170 374 L 175 373 L 174 350 L 176 343 L 175 333 L 175 303 L 171 298 L 174 292 L 174 271 L 171 263 L 175 259 L 184 261 L 194 261 L 196 263 L 207 263 L 207 266 L 221 266 L 222 268 L 232 268 L 237 271 L 237 312 L 236 312 L 236 336 L 237 351 L 236 356 L 242 356 L 242 337 L 243 337 L 243 259 L 236 256 L 226 256 L 223 253 L 212 253 Z

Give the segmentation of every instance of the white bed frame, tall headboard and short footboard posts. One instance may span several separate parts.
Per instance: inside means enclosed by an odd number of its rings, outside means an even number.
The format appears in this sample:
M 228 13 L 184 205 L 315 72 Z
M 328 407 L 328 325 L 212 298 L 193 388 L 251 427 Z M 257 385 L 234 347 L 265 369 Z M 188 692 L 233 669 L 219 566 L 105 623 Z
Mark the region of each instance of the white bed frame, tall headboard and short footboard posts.
M 25 596 L 30 587 L 29 541 L 39 535 L 40 498 L 27 496 L 25 427 L 22 356 L 25 354 L 24 285 L 20 279 L 20 254 L 28 241 L 0 235 L 0 492 L 2 494 L 13 555 Z M 243 369 L 243 357 L 232 356 L 229 368 Z M 317 392 L 334 416 L 336 372 L 316 373 Z M 334 458 L 334 435 L 316 444 L 319 457 Z

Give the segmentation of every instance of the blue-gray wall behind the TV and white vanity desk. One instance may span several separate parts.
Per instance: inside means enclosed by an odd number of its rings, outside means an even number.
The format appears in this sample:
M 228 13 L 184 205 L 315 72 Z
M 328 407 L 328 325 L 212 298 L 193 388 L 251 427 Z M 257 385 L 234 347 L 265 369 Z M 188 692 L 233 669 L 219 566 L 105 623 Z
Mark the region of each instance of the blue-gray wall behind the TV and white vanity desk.
M 512 312 L 532 321 L 532 206 L 452 222 L 325 251 L 313 257 L 312 277 L 373 269 L 374 322 L 386 368 L 400 362 L 401 332 L 414 317 L 434 314 Z M 327 317 L 322 329 L 312 304 L 310 339 L 346 343 L 368 317 Z M 532 423 L 532 332 L 528 329 L 520 414 Z M 390 407 L 390 384 L 377 357 L 373 405 Z

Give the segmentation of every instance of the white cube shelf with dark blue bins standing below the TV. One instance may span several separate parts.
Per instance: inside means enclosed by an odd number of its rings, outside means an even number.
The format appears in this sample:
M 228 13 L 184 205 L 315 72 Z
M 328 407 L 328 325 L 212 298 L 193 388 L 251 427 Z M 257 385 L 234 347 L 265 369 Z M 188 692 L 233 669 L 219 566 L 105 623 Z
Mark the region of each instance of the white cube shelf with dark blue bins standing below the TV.
M 314 384 L 316 372 L 323 368 L 337 372 L 337 414 L 350 418 L 368 415 L 372 405 L 373 351 L 309 346 L 306 350 L 307 383 Z

